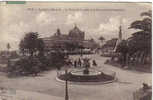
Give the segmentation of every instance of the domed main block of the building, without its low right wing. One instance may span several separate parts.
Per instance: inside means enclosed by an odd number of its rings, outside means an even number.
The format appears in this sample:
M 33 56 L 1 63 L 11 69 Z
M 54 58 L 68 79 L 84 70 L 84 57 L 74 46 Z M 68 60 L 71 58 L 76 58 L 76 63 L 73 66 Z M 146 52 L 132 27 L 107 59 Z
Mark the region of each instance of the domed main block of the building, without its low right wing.
M 54 33 L 53 36 L 43 38 L 43 41 L 45 43 L 46 50 L 51 50 L 55 46 L 58 48 L 65 48 L 67 43 L 83 46 L 85 33 L 77 26 L 70 30 L 68 35 L 62 34 L 60 29 L 57 29 L 57 32 Z

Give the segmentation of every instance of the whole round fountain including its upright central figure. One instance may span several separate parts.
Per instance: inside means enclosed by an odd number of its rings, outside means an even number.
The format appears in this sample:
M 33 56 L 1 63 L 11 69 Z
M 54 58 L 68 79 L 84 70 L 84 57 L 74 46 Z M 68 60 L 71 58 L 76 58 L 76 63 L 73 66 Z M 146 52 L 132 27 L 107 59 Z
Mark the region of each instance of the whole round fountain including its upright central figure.
M 58 79 L 65 80 L 67 77 L 70 82 L 112 82 L 114 75 L 108 75 L 102 71 L 90 68 L 89 60 L 84 60 L 84 67 L 81 69 L 70 70 L 68 74 L 61 74 Z

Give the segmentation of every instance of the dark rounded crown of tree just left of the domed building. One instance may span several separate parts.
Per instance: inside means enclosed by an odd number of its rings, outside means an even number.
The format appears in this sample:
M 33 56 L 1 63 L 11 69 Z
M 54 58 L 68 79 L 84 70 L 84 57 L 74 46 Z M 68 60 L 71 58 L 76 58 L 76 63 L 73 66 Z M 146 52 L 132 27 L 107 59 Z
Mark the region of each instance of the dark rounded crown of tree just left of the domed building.
M 21 40 L 19 47 L 22 53 L 28 53 L 30 56 L 34 56 L 36 52 L 42 53 L 44 51 L 44 42 L 38 37 L 37 32 L 29 32 Z

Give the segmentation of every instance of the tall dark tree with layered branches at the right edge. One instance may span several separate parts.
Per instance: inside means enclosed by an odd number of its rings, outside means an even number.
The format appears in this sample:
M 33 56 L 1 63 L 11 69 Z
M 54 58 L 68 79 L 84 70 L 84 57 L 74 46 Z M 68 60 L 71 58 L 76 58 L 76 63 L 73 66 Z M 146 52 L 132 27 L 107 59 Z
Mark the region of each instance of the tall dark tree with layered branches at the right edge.
M 132 37 L 128 39 L 128 44 L 130 56 L 135 56 L 137 61 L 145 63 L 146 58 L 151 55 L 151 10 L 142 12 L 141 16 L 145 16 L 145 18 L 134 21 L 129 27 L 139 29 L 139 31 L 132 34 Z

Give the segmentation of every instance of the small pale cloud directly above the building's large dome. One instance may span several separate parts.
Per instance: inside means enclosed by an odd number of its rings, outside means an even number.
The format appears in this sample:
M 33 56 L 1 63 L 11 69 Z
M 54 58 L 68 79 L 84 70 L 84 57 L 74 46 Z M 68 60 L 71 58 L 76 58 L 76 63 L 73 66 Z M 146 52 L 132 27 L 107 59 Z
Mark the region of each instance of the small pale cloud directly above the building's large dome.
M 66 24 L 74 24 L 82 21 L 82 13 L 75 12 L 74 14 L 68 14 Z

